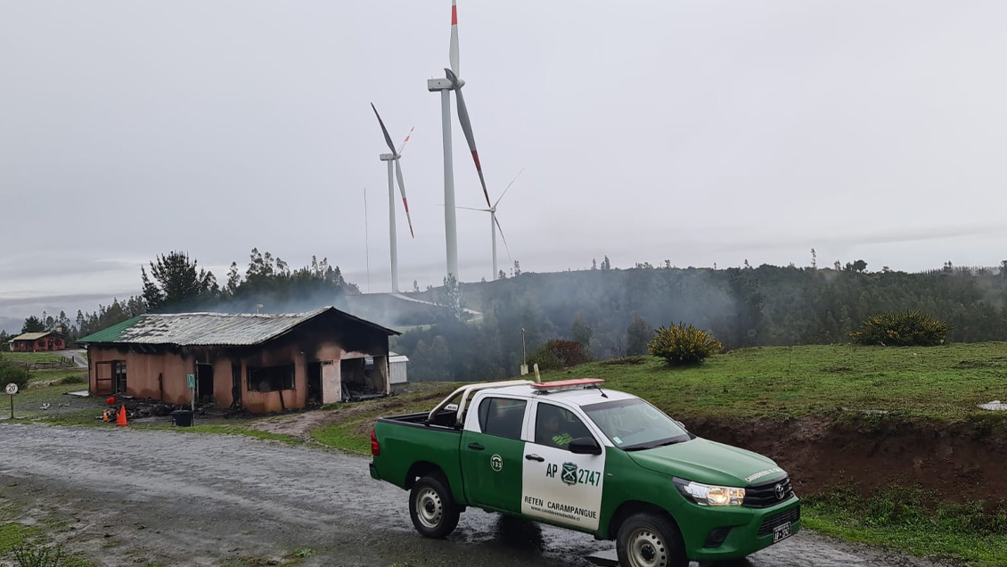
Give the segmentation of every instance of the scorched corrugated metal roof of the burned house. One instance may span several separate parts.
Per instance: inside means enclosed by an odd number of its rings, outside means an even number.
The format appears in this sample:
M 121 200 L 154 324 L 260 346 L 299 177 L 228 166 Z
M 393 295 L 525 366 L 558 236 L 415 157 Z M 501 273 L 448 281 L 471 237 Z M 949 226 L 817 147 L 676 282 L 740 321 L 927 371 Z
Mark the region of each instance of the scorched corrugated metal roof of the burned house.
M 326 312 L 335 312 L 388 334 L 398 331 L 339 311 L 322 307 L 307 313 L 149 313 L 81 338 L 78 342 L 138 344 L 252 345 L 280 336 L 295 326 Z

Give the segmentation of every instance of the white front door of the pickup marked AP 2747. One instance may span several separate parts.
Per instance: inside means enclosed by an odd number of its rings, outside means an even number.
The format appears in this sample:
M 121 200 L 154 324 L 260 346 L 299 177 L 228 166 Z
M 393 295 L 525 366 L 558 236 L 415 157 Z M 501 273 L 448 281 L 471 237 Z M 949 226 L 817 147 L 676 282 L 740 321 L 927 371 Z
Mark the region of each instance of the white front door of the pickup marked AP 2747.
M 604 486 L 605 453 L 574 454 L 571 440 L 597 438 L 570 410 L 536 402 L 535 421 L 525 444 L 521 513 L 550 522 L 598 529 L 601 489 Z

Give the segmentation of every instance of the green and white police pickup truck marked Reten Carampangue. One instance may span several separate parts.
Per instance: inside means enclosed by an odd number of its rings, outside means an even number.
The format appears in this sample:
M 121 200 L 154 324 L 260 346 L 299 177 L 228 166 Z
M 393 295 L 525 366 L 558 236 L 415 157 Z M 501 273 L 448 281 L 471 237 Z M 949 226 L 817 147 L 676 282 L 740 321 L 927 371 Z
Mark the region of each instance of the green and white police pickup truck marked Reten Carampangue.
M 471 506 L 615 540 L 624 567 L 738 559 L 798 532 L 776 463 L 602 382 L 476 384 L 382 418 L 371 476 L 410 490 L 424 536 L 447 536 Z

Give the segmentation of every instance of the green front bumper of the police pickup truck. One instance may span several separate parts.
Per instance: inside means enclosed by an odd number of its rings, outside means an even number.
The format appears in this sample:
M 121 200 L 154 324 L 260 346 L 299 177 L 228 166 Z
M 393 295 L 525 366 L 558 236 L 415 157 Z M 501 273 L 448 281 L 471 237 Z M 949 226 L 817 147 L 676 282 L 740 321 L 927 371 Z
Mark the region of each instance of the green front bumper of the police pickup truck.
M 790 536 L 801 530 L 797 497 L 762 509 L 687 506 L 694 507 L 691 522 L 680 526 L 686 553 L 694 561 L 741 559 L 775 543 L 777 528 L 785 533 L 781 527 L 789 526 Z

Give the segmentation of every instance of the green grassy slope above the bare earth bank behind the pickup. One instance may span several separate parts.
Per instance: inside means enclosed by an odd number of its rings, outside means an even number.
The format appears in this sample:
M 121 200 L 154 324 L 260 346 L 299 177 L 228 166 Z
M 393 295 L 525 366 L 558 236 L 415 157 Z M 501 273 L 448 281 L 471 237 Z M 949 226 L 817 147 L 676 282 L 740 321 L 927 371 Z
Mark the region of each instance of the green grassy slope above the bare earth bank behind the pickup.
M 1007 400 L 1007 342 L 756 347 L 685 369 L 642 357 L 543 375 L 560 378 L 602 378 L 672 415 L 782 419 L 845 409 L 955 419 Z

